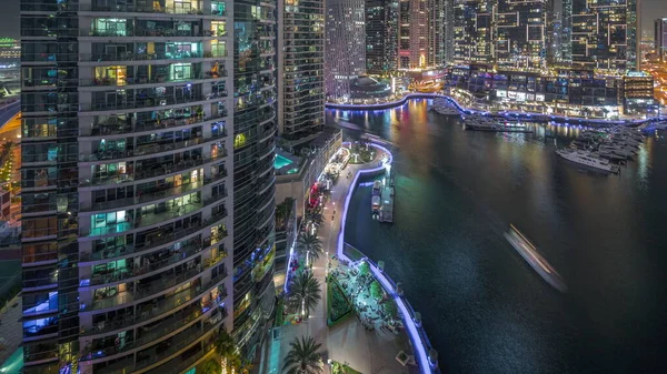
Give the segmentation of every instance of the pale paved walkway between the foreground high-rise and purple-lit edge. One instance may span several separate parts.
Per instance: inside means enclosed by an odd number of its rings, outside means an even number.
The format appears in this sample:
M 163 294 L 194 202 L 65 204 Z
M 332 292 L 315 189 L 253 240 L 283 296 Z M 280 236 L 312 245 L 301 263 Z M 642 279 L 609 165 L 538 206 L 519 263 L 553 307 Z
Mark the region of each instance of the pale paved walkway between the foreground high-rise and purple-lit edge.
M 336 324 L 327 325 L 327 267 L 338 247 L 338 236 L 341 224 L 342 206 L 351 186 L 355 175 L 359 170 L 376 168 L 379 160 L 387 154 L 378 152 L 372 162 L 366 164 L 349 164 L 340 173 L 337 184 L 331 189 L 330 199 L 325 206 L 325 224 L 319 229 L 318 236 L 322 242 L 326 254 L 313 264 L 312 272 L 322 286 L 322 301 L 310 312 L 310 317 L 299 324 L 286 325 L 280 328 L 280 371 L 285 356 L 289 352 L 289 343 L 295 337 L 313 336 L 321 344 L 321 352 L 327 360 L 346 363 L 354 370 L 364 374 L 400 374 L 416 372 L 416 367 L 402 366 L 396 361 L 396 355 L 408 345 L 408 337 L 402 332 L 397 337 L 381 330 L 368 331 L 364 323 L 356 317 Z M 347 178 L 348 172 L 350 176 Z M 331 219 L 332 218 L 332 219 Z M 272 347 L 276 345 L 272 344 Z M 269 355 L 272 355 L 271 353 Z M 275 365 L 267 365 L 272 366 Z M 266 374 L 267 372 L 262 373 Z M 325 373 L 330 373 L 328 365 Z

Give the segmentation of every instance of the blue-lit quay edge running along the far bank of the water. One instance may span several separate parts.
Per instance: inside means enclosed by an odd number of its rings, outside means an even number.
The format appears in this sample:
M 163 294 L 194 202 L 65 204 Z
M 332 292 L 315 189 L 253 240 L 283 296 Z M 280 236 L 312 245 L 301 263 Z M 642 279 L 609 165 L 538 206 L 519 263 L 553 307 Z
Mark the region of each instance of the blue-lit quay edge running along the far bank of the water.
M 442 94 L 442 93 L 408 93 L 402 99 L 390 102 L 382 103 L 374 103 L 374 104 L 339 104 L 339 103 L 326 103 L 325 107 L 327 109 L 337 109 L 337 110 L 359 110 L 359 111 L 368 111 L 368 110 L 385 110 L 404 105 L 408 100 L 412 99 L 436 99 L 442 98 L 449 101 L 456 109 L 458 109 L 461 114 L 472 114 L 472 113 L 487 113 L 481 110 L 466 108 L 461 105 L 456 99 L 452 97 Z M 524 119 L 530 122 L 559 122 L 559 123 L 571 123 L 571 124 L 583 124 L 590 127 L 614 127 L 614 125 L 626 125 L 626 127 L 640 127 L 646 123 L 657 122 L 657 121 L 667 121 L 667 115 L 660 117 L 651 117 L 648 119 L 638 119 L 638 120 L 603 120 L 603 119 L 587 119 L 587 118 L 578 118 L 578 117 L 564 117 L 564 115 L 554 115 L 554 114 L 544 114 L 536 112 L 516 112 L 516 111 L 507 111 L 500 113 L 491 113 L 494 115 L 502 115 L 506 118 L 516 118 Z

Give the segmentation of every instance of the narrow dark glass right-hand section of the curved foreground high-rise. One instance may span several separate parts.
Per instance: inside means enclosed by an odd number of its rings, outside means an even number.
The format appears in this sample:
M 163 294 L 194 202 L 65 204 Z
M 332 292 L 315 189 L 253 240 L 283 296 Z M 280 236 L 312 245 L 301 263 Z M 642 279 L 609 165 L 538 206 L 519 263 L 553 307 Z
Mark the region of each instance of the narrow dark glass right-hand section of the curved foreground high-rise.
M 275 305 L 276 0 L 233 1 L 233 336 L 258 352 Z

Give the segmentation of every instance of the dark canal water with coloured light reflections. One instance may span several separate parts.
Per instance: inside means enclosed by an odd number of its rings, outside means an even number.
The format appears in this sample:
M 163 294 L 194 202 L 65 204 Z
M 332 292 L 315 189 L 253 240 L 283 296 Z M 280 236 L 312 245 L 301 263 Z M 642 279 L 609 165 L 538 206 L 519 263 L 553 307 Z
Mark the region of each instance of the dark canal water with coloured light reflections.
M 667 372 L 667 139 L 603 175 L 557 159 L 577 129 L 469 132 L 427 103 L 328 111 L 327 122 L 394 143 L 395 223 L 372 221 L 359 188 L 346 241 L 404 284 L 442 371 Z M 510 223 L 568 293 L 506 242 Z

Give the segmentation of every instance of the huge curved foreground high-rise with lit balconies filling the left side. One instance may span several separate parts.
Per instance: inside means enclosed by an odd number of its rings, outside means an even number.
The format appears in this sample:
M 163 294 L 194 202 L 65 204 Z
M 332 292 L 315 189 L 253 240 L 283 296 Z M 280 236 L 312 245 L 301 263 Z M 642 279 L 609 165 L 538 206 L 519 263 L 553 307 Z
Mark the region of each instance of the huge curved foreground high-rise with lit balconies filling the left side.
M 24 373 L 182 373 L 221 330 L 253 352 L 273 302 L 273 13 L 21 0 Z

